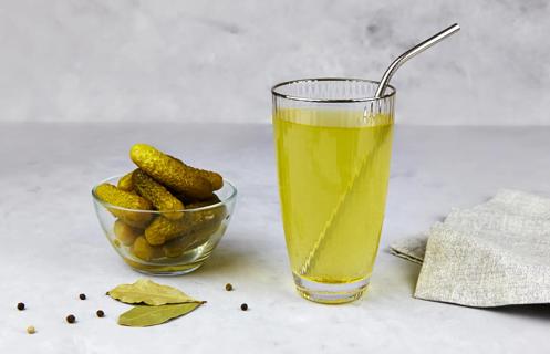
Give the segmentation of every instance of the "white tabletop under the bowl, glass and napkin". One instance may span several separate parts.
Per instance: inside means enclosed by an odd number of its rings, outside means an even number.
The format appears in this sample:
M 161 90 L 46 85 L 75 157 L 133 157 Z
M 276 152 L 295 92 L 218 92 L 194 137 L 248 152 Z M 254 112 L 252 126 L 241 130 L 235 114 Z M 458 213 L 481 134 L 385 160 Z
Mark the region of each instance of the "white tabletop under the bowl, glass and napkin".
M 191 274 L 155 279 L 208 303 L 147 329 L 116 324 L 127 305 L 105 291 L 143 275 L 111 249 L 90 196 L 94 183 L 132 168 L 136 142 L 219 170 L 239 188 L 212 258 Z M 294 291 L 269 125 L 0 124 L 0 353 L 548 352 L 550 306 L 415 300 L 419 267 L 391 256 L 387 244 L 500 187 L 549 196 L 549 152 L 548 127 L 397 126 L 370 292 L 331 306 Z M 236 290 L 226 292 L 227 282 Z M 19 301 L 28 310 L 15 310 Z M 97 309 L 105 319 L 95 317 Z M 76 324 L 65 323 L 69 313 Z M 34 335 L 25 333 L 30 324 Z

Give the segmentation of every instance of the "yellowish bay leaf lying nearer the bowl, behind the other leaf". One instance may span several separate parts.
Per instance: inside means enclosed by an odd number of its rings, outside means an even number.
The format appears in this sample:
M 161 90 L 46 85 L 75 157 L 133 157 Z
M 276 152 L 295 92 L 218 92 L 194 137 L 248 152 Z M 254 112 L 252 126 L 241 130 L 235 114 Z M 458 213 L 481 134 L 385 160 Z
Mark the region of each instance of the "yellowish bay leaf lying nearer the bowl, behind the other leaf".
M 183 291 L 168 285 L 160 285 L 148 279 L 139 279 L 133 284 L 121 284 L 107 294 L 125 303 L 145 303 L 165 305 L 169 303 L 198 302 Z

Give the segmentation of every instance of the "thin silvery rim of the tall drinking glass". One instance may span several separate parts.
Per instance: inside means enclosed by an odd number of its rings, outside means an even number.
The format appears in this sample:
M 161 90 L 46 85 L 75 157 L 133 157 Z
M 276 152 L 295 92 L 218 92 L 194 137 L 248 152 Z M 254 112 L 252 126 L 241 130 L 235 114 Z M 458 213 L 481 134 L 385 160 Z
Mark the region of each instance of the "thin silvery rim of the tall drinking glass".
M 277 97 L 282 97 L 291 101 L 301 101 L 301 102 L 315 102 L 315 103 L 354 103 L 354 102 L 375 102 L 382 101 L 385 98 L 390 98 L 395 96 L 396 90 L 392 85 L 387 85 L 386 90 L 390 88 L 391 92 L 384 94 L 382 97 L 357 97 L 357 98 L 312 98 L 312 97 L 303 97 L 303 96 L 294 96 L 283 94 L 278 91 L 280 87 L 284 87 L 291 84 L 304 83 L 304 82 L 322 82 L 322 81 L 344 81 L 344 82 L 362 82 L 370 84 L 380 84 L 380 81 L 367 80 L 367 79 L 354 79 L 354 77 L 310 77 L 310 79 L 297 79 L 290 81 L 283 81 L 271 87 L 271 94 Z

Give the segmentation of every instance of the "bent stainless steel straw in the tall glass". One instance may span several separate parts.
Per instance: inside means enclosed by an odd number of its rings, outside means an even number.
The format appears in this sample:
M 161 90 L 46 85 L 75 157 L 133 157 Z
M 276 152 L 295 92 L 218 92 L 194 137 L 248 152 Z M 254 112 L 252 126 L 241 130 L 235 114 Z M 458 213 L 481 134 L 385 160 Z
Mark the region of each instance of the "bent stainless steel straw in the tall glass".
M 392 62 L 392 64 L 386 69 L 384 72 L 384 75 L 382 76 L 382 80 L 380 81 L 378 87 L 376 88 L 376 93 L 374 94 L 375 98 L 381 98 L 384 95 L 384 91 L 390 83 L 390 80 L 392 79 L 393 74 L 399 69 L 401 65 L 403 65 L 407 60 L 415 56 L 416 54 L 422 53 L 426 49 L 430 48 L 432 45 L 438 43 L 439 41 L 446 39 L 450 34 L 457 32 L 460 30 L 460 27 L 458 23 L 455 23 L 445 30 L 440 31 L 439 33 L 428 38 L 427 40 L 416 44 L 415 46 L 411 48 L 408 51 L 404 52 L 399 56 L 397 56 L 396 60 Z M 374 113 L 374 102 L 371 104 L 371 114 Z M 369 108 L 365 107 L 365 117 L 369 115 Z M 305 262 L 302 264 L 302 268 L 300 270 L 302 275 L 305 275 L 310 272 L 311 267 L 314 264 L 315 259 L 319 257 L 318 252 L 319 249 L 322 247 L 322 243 L 324 242 L 324 239 L 328 235 L 328 231 L 332 228 L 332 223 L 334 222 L 335 217 L 339 215 L 342 206 L 345 204 L 345 200 L 350 192 L 354 189 L 355 181 L 360 179 L 359 177 L 364 173 L 365 166 L 367 165 L 367 162 L 370 159 L 372 154 L 367 154 L 365 156 L 365 159 L 362 162 L 360 168 L 356 170 L 354 174 L 353 178 L 351 179 L 351 183 L 347 185 L 347 188 L 345 192 L 342 195 L 342 197 L 339 199 L 336 207 L 334 208 L 332 215 L 330 216 L 329 220 L 324 225 L 321 233 L 319 235 L 319 238 L 311 249 L 310 253 L 308 254 L 308 258 L 305 259 Z

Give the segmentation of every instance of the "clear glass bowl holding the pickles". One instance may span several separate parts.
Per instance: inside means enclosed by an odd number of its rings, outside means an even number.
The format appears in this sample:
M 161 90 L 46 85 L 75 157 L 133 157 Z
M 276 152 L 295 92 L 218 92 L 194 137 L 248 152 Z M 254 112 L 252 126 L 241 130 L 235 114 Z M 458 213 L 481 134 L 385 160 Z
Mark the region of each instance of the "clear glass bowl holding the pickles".
M 116 186 L 121 177 L 100 185 Z M 215 191 L 220 201 L 210 206 L 170 212 L 126 209 L 101 200 L 97 186 L 92 196 L 108 242 L 134 270 L 155 275 L 185 274 L 203 266 L 226 232 L 237 199 L 235 186 L 224 180 Z

